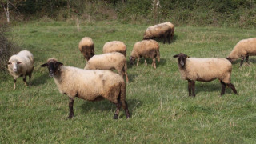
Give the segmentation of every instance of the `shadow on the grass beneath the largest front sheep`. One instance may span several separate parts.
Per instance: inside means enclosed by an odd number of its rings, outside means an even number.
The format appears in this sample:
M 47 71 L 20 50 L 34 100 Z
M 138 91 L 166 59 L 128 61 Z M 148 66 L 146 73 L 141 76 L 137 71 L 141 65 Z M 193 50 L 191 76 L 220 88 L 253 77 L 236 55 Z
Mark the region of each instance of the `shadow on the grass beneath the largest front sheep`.
M 126 99 L 126 102 L 128 104 L 128 110 L 130 112 L 130 115 L 133 115 L 133 112 L 136 108 L 142 106 L 142 101 L 138 99 Z M 112 111 L 113 115 L 116 109 L 116 106 L 113 102 L 110 102 L 108 100 L 103 100 L 100 102 L 83 102 L 80 106 L 82 109 L 83 114 L 90 113 L 91 110 L 97 110 L 97 111 Z M 124 110 L 121 108 L 121 114 L 119 115 L 119 118 L 126 117 L 126 114 L 124 113 Z

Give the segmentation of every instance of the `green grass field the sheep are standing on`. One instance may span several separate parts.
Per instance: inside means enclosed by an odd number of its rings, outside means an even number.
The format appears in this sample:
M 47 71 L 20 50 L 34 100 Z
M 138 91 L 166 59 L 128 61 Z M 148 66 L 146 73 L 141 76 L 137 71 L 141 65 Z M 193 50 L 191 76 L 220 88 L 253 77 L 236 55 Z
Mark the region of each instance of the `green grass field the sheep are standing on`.
M 89 36 L 95 54 L 102 54 L 105 42 L 126 43 L 127 60 L 135 42 L 142 40 L 146 25 L 118 22 L 83 23 L 81 31 L 73 23 L 29 22 L 14 26 L 14 41 L 34 54 L 32 86 L 18 78 L 17 89 L 9 74 L 0 79 L 0 143 L 255 143 L 256 142 L 256 58 L 239 68 L 234 62 L 230 88 L 220 97 L 221 84 L 196 82 L 196 97 L 188 97 L 187 82 L 180 78 L 174 54 L 190 57 L 222 57 L 241 39 L 255 37 L 256 30 L 216 27 L 176 27 L 174 41 L 160 44 L 157 69 L 130 66 L 126 100 L 132 118 L 122 110 L 114 120 L 115 106 L 109 101 L 74 100 L 73 119 L 68 98 L 59 94 L 48 70 L 41 68 L 47 58 L 57 58 L 66 66 L 83 68 L 85 60 L 78 42 Z

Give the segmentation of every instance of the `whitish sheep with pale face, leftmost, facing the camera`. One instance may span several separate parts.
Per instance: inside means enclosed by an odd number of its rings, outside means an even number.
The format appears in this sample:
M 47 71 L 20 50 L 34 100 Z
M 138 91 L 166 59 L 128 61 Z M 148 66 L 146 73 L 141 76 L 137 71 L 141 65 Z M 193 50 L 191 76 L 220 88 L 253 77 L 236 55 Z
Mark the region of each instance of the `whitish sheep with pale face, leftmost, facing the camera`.
M 30 86 L 31 77 L 34 70 L 34 56 L 28 50 L 22 50 L 18 54 L 10 57 L 8 61 L 8 70 L 14 77 L 14 90 L 16 89 L 16 81 L 18 77 L 23 77 L 23 82 L 26 84 L 26 76 L 29 76 Z

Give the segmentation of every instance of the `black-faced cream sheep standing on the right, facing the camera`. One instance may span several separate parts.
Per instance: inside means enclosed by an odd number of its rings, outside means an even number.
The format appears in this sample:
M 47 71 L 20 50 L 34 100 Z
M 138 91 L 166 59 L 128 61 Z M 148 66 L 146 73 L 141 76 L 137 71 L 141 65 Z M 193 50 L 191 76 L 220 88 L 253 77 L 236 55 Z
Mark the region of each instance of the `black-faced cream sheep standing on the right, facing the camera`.
M 189 96 L 194 94 L 195 81 L 210 82 L 218 78 L 222 84 L 221 96 L 225 94 L 226 85 L 234 94 L 238 94 L 234 85 L 230 82 L 232 64 L 226 58 L 189 58 L 186 54 L 176 54 L 178 58 L 178 70 L 182 79 L 188 81 Z

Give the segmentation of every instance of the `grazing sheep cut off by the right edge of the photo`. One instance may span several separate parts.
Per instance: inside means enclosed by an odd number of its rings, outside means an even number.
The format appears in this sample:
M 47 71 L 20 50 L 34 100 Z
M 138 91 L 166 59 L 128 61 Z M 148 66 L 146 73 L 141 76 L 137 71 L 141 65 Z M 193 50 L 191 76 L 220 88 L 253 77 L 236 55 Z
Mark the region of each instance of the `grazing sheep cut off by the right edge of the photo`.
M 256 38 L 248 38 L 239 41 L 227 59 L 234 62 L 238 58 L 242 58 L 240 62 L 240 67 L 242 67 L 244 59 L 246 58 L 246 62 L 248 62 L 249 56 L 254 55 L 256 55 Z

